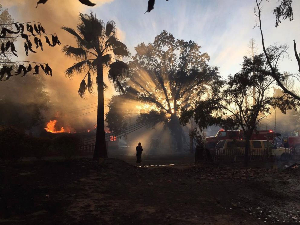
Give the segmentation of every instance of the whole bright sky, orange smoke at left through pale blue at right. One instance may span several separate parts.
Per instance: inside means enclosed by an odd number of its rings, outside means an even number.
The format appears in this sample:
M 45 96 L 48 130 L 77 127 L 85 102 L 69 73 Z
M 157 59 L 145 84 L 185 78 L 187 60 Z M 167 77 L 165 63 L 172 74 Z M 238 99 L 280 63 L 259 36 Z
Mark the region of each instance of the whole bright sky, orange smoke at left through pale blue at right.
M 118 37 L 129 47 L 132 55 L 135 54 L 134 47 L 137 44 L 153 42 L 155 36 L 165 29 L 175 38 L 192 40 L 202 46 L 202 52 L 207 52 L 210 56 L 209 64 L 220 67 L 220 74 L 224 78 L 241 69 L 243 56 L 249 55 L 247 45 L 250 38 L 256 40 L 258 53 L 262 51 L 259 29 L 253 29 L 257 19 L 253 13 L 255 0 L 156 0 L 154 10 L 146 14 L 144 12 L 148 0 L 92 0 L 97 3 L 94 7 L 82 5 L 77 0 L 48 0 L 45 5 L 40 4 L 35 8 L 36 2 L 37 0 L 2 0 L 1 4 L 4 8 L 9 8 L 15 21 L 40 21 L 47 32 L 57 33 L 62 44 L 74 45 L 75 42 L 60 27 L 65 25 L 75 28 L 79 12 L 89 13 L 92 10 L 104 22 L 116 21 Z M 298 43 L 300 51 L 300 1 L 293 2 L 294 21 L 282 21 L 278 28 L 275 28 L 275 17 L 272 14 L 276 5 L 277 0 L 263 3 L 265 43 L 267 46 L 274 42 L 289 44 L 290 58 L 285 58 L 280 63 L 280 70 L 295 73 L 298 69 L 293 39 Z M 22 52 L 23 43 L 20 43 Z M 29 53 L 29 57 L 19 56 L 18 60 L 43 60 L 49 63 L 54 72 L 53 77 L 46 77 L 51 99 L 71 107 L 96 101 L 95 95 L 88 94 L 88 100 L 77 95 L 84 75 L 77 75 L 73 80 L 65 77 L 64 71 L 75 61 L 67 59 L 61 52 L 61 47 L 46 46 L 44 52 Z M 109 86 L 106 99 L 113 94 L 113 87 Z M 95 113 L 88 116 L 94 120 Z

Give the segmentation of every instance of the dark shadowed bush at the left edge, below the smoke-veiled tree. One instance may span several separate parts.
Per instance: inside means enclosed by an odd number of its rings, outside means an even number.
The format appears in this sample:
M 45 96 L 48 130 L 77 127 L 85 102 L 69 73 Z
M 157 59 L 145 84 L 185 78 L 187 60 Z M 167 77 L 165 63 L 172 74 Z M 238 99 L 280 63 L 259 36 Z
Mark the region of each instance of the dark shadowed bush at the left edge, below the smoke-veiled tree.
M 18 160 L 28 152 L 28 135 L 14 127 L 0 127 L 0 159 Z

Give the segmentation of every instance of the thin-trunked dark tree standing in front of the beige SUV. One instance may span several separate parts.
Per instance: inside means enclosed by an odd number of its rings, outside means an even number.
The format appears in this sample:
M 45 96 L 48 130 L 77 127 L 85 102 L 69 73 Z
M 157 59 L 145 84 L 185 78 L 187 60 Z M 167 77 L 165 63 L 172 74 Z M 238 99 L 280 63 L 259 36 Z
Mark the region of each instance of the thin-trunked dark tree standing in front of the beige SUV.
M 255 68 L 256 72 L 245 69 L 249 67 Z M 263 53 L 255 55 L 253 59 L 244 57 L 244 69 L 229 76 L 222 93 L 219 97 L 216 95 L 205 109 L 210 111 L 210 115 L 213 117 L 210 120 L 216 121 L 216 124 L 219 123 L 218 125 L 223 126 L 223 123 L 241 127 L 246 139 L 245 166 L 248 165 L 249 159 L 249 140 L 259 122 L 270 114 L 273 107 L 278 107 L 283 113 L 297 107 L 295 99 L 287 98 L 287 94 L 273 96 L 270 93 L 275 80 L 265 73 L 258 72 L 265 71 L 268 67 L 269 64 Z M 255 94 L 253 95 L 253 93 Z M 249 98 L 254 99 L 253 104 L 248 103 Z M 199 107 L 198 104 L 196 104 L 196 109 Z M 194 110 L 193 113 L 194 118 L 205 115 L 199 110 Z

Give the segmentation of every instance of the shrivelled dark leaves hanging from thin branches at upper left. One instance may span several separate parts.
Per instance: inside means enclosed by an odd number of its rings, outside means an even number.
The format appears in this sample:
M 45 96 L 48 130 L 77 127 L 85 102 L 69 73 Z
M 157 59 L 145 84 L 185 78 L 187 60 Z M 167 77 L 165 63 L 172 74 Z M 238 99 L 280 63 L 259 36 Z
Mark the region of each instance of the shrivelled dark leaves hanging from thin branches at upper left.
M 7 52 L 11 51 L 16 57 L 18 54 L 15 48 L 15 44 L 13 40 L 18 40 L 18 38 L 24 39 L 24 50 L 25 54 L 28 56 L 28 51 L 36 53 L 35 49 L 41 48 L 43 51 L 43 42 L 46 42 L 49 46 L 54 47 L 56 45 L 61 45 L 60 41 L 56 34 L 47 34 L 41 23 L 39 22 L 26 22 L 26 23 L 14 23 L 14 24 L 0 24 L 2 26 L 2 30 L 0 32 L 0 45 L 1 45 L 1 54 L 5 57 L 7 56 Z M 8 29 L 5 26 L 14 25 L 15 30 Z M 10 35 L 9 35 L 10 34 Z M 16 34 L 16 35 L 14 35 Z M 9 41 L 4 41 L 8 40 Z M 42 41 L 43 40 L 43 41 Z M 28 72 L 34 70 L 33 74 L 39 74 L 40 68 L 44 71 L 46 75 L 50 75 L 52 77 L 52 69 L 47 63 L 37 63 L 30 61 L 23 62 L 0 62 L 3 66 L 0 69 L 0 81 L 8 80 L 13 75 L 22 74 L 24 77 Z M 25 64 L 26 65 L 25 65 Z M 35 64 L 32 67 L 32 64 Z M 14 64 L 8 66 L 7 64 Z M 15 64 L 18 64 L 18 69 L 15 68 Z M 28 64 L 28 65 L 27 65 Z M 13 71 L 13 70 L 17 71 Z

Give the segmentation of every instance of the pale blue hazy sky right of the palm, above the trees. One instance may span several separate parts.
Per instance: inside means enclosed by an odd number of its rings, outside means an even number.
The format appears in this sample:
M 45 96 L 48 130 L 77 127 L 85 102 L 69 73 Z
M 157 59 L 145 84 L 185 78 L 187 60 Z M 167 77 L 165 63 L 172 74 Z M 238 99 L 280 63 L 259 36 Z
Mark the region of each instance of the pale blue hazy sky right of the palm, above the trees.
M 294 21 L 283 21 L 278 28 L 275 28 L 272 14 L 276 3 L 277 0 L 271 0 L 263 4 L 266 45 L 274 42 L 289 44 L 291 59 L 284 60 L 280 68 L 296 72 L 293 39 L 299 43 L 300 51 L 300 1 L 293 3 Z M 134 46 L 140 42 L 153 42 L 155 35 L 165 29 L 175 38 L 192 40 L 202 46 L 202 51 L 211 57 L 210 64 L 220 67 L 221 75 L 227 77 L 240 70 L 243 56 L 248 54 L 250 38 L 256 40 L 258 51 L 262 51 L 259 29 L 253 29 L 255 6 L 255 0 L 157 0 L 154 10 L 144 14 L 146 0 L 115 0 L 94 11 L 104 21 L 116 21 L 132 54 L 135 53 Z

